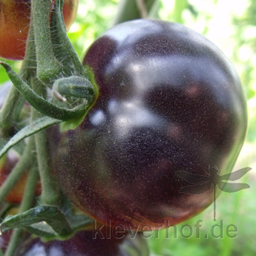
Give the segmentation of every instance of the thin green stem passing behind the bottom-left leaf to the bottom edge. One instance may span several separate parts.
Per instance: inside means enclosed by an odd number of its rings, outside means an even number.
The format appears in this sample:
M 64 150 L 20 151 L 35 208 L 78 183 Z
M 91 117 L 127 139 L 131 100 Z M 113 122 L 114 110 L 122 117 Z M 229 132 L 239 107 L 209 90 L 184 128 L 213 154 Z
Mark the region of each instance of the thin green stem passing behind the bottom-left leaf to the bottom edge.
M 27 185 L 24 191 L 22 204 L 19 207 L 20 213 L 27 211 L 32 206 L 38 178 L 39 178 L 39 173 L 37 171 L 37 168 L 33 166 L 33 168 L 30 168 L 30 174 L 27 178 Z M 16 251 L 17 245 L 19 244 L 19 241 L 22 237 L 22 232 L 23 232 L 22 229 L 15 229 L 13 231 L 13 235 L 10 239 L 10 243 L 8 244 L 7 251 L 5 252 L 5 256 L 12 256 L 13 253 Z

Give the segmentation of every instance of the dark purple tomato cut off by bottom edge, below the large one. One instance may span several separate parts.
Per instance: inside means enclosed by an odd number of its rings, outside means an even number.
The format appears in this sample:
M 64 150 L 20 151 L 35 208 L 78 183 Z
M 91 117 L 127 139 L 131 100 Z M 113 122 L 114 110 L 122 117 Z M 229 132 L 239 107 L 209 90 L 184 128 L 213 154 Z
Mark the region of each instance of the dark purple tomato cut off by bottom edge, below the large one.
M 96 238 L 95 238 L 96 235 Z M 119 237 L 119 238 L 118 238 Z M 77 232 L 69 240 L 52 240 L 43 243 L 40 238 L 25 240 L 13 256 L 148 256 L 148 245 L 140 234 L 98 234 Z

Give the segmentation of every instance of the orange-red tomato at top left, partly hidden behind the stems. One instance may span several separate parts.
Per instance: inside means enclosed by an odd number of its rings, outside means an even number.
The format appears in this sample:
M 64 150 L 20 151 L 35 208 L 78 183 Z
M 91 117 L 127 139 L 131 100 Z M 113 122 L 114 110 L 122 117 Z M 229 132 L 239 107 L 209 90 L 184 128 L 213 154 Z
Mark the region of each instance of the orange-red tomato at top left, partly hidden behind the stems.
M 63 16 L 67 30 L 76 17 L 79 0 L 65 0 Z M 24 59 L 30 24 L 30 0 L 0 1 L 0 57 Z

